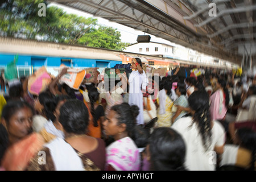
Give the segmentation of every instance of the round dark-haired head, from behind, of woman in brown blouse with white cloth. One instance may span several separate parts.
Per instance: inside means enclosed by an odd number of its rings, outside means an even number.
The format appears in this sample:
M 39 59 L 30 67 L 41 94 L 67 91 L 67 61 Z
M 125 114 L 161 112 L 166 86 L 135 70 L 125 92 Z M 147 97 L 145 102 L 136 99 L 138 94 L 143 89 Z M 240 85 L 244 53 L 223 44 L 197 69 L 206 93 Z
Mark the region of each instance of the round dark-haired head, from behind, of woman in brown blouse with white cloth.
M 67 133 L 85 134 L 89 125 L 89 113 L 84 102 L 68 100 L 60 107 L 59 122 Z

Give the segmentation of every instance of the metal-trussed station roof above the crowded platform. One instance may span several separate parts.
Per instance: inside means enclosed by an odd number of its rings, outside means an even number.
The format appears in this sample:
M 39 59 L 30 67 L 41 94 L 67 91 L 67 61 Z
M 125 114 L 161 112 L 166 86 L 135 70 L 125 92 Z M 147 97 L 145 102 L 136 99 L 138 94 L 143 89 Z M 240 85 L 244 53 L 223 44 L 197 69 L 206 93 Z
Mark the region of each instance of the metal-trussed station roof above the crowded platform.
M 48 2 L 72 7 L 238 65 L 243 55 L 256 59 L 254 0 Z

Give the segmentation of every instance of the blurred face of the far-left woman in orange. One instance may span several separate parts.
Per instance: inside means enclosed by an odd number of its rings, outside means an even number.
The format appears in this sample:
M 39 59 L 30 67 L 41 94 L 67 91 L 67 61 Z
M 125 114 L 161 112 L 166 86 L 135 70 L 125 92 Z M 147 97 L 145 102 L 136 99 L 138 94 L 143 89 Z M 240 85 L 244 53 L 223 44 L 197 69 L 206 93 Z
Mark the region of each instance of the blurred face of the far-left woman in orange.
M 16 138 L 26 137 L 32 131 L 33 113 L 28 107 L 23 107 L 16 111 L 7 124 L 9 135 Z

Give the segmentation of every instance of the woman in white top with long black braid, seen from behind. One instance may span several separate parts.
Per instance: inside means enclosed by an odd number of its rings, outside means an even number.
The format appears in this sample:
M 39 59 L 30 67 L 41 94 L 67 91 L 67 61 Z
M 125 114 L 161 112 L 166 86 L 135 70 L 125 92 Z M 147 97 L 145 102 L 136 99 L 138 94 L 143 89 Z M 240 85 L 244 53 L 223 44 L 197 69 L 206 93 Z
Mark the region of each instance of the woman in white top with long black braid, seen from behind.
M 205 90 L 193 92 L 188 104 L 192 116 L 180 118 L 171 126 L 184 139 L 185 167 L 190 171 L 214 171 L 217 162 L 211 156 L 223 153 L 225 129 L 210 119 L 209 94 Z

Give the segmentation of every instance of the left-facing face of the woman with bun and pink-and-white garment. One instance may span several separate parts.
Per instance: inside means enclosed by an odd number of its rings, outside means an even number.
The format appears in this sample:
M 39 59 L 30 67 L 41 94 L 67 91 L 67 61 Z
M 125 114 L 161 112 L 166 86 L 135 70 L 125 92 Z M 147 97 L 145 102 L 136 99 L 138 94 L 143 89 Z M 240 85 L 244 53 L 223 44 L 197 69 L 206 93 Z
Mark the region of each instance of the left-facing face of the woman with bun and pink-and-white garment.
M 110 110 L 109 114 L 106 116 L 105 121 L 103 122 L 103 129 L 108 136 L 115 136 L 119 133 L 118 120 L 115 118 L 115 115 L 115 111 Z

